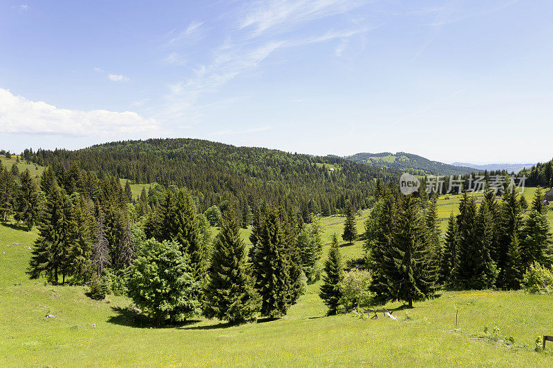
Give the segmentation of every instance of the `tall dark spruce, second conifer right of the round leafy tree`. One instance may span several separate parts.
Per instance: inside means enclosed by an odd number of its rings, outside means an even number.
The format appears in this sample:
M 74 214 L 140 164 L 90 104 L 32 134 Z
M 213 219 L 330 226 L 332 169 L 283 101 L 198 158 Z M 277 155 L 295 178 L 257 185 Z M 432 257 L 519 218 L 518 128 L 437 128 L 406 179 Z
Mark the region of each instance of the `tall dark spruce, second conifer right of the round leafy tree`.
M 261 296 L 261 316 L 284 316 L 290 305 L 290 263 L 284 231 L 277 210 L 261 222 L 254 253 L 255 287 Z

